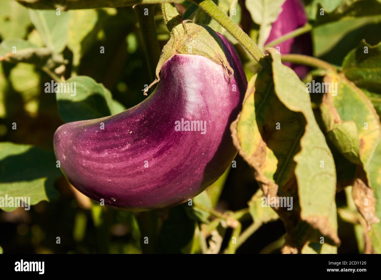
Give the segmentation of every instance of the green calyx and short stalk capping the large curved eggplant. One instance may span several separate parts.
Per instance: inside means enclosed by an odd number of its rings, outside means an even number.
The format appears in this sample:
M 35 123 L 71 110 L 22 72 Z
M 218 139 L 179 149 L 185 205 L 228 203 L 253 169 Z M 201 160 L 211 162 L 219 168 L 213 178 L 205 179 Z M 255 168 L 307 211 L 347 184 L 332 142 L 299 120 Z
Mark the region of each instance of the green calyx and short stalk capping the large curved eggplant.
M 221 64 L 226 69 L 226 74 L 233 77 L 234 70 L 227 61 L 221 39 L 213 29 L 191 20 L 184 20 L 173 3 L 162 4 L 162 14 L 170 31 L 170 39 L 160 55 L 155 72 L 156 79 L 144 90 L 144 95 L 147 95 L 149 88 L 160 80 L 159 73 L 163 64 L 175 54 L 205 56 Z

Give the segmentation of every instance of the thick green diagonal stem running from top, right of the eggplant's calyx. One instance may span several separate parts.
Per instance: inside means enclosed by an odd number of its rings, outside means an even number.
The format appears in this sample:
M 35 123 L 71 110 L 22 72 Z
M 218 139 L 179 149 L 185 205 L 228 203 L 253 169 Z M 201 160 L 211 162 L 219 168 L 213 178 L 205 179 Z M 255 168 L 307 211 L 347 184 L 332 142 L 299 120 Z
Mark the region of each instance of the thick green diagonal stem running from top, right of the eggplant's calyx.
M 243 32 L 243 30 L 232 21 L 212 0 L 193 0 L 211 18 L 215 19 L 224 27 L 250 54 L 259 62 L 264 57 L 263 51 Z

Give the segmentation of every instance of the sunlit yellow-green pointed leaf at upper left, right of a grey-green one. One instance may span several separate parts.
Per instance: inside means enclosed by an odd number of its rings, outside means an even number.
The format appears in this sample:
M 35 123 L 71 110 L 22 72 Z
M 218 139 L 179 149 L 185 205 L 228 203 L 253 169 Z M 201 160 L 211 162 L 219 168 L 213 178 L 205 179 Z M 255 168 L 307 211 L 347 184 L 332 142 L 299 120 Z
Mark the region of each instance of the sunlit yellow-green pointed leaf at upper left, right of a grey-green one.
M 72 10 L 69 13 L 68 46 L 73 52 L 73 64 L 78 66 L 81 57 L 96 38 L 97 32 L 93 29 L 98 21 L 98 13 L 96 10 Z

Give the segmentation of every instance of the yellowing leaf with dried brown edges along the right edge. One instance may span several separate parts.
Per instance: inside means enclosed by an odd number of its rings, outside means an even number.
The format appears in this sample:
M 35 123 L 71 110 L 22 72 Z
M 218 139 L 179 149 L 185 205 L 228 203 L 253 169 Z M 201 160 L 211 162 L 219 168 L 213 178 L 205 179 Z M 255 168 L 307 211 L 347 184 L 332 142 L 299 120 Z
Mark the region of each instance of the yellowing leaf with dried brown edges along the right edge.
M 368 230 L 373 225 L 370 232 L 375 251 L 381 252 L 380 232 L 381 226 L 379 219 L 381 217 L 381 125 L 379 117 L 372 106 L 370 100 L 362 90 L 351 81 L 347 80 L 344 74 L 328 72 L 324 79 L 325 82 L 337 83 L 337 93 L 325 93 L 322 105 L 322 119 L 330 134 L 330 120 L 336 119 L 336 122 L 354 123 L 356 129 L 347 130 L 347 134 L 338 135 L 338 137 L 329 137 L 335 147 L 351 162 L 357 161 L 356 178 L 353 184 L 352 196 L 357 210 L 365 218 Z M 329 109 L 328 109 L 329 108 Z M 360 153 L 355 159 L 355 153 L 345 154 L 344 150 L 349 150 L 351 142 L 358 139 L 360 143 Z M 345 149 L 339 147 L 346 143 Z M 351 160 L 352 159 L 352 160 Z M 366 203 L 364 203 L 364 200 Z

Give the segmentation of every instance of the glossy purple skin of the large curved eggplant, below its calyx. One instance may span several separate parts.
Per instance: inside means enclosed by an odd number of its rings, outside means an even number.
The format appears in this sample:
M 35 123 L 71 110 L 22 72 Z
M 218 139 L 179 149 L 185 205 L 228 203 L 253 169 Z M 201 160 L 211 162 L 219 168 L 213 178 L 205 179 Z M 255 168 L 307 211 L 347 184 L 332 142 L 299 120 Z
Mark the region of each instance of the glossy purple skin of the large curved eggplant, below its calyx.
M 75 188 L 105 205 L 145 211 L 187 201 L 224 173 L 237 154 L 229 126 L 247 79 L 234 47 L 218 35 L 234 77 L 203 56 L 175 54 L 140 104 L 56 130 L 54 152 Z M 206 133 L 176 131 L 182 118 L 205 121 Z

